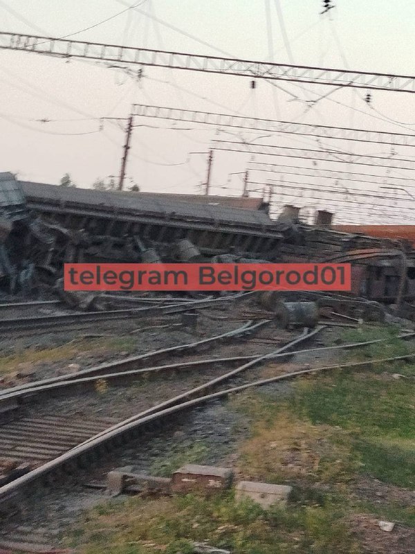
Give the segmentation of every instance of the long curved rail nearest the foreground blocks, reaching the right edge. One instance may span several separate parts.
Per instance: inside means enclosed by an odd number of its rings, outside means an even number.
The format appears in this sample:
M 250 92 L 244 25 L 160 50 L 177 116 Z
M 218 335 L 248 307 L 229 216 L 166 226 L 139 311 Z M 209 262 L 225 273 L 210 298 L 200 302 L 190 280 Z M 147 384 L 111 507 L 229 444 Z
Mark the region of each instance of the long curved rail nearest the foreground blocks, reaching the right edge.
M 308 335 L 305 334 L 304 338 L 306 338 L 307 336 Z M 300 338 L 301 337 L 299 337 L 299 339 Z M 296 341 L 298 341 L 299 339 L 296 339 Z M 186 400 L 185 402 L 181 402 L 179 404 L 176 404 L 174 406 L 169 406 L 167 408 L 164 407 L 165 403 L 159 404 L 158 406 L 154 406 L 154 408 L 151 409 L 153 411 L 154 410 L 158 410 L 158 411 L 155 411 L 149 414 L 147 413 L 148 411 L 145 411 L 142 414 L 138 414 L 135 420 L 124 423 L 122 427 L 108 430 L 107 433 L 105 433 L 104 435 L 98 434 L 97 436 L 91 438 L 91 440 L 89 440 L 88 442 L 82 443 L 81 445 L 78 445 L 77 447 L 74 447 L 73 449 L 69 450 L 65 454 L 62 454 L 62 456 L 59 456 L 58 458 L 51 460 L 50 462 L 42 465 L 41 467 L 37 467 L 35 470 L 28 472 L 26 475 L 21 476 L 18 479 L 15 479 L 15 481 L 12 481 L 7 485 L 3 485 L 3 487 L 0 488 L 0 503 L 13 499 L 17 495 L 19 490 L 23 489 L 26 485 L 33 483 L 33 481 L 37 479 L 43 478 L 44 476 L 46 476 L 46 474 L 52 472 L 53 470 L 57 470 L 58 467 L 62 467 L 62 466 L 65 466 L 66 464 L 73 463 L 73 461 L 75 461 L 77 458 L 80 458 L 80 456 L 82 456 L 83 454 L 87 455 L 89 452 L 93 451 L 93 449 L 99 449 L 100 447 L 103 447 L 105 443 L 109 444 L 111 443 L 111 441 L 120 440 L 120 438 L 122 438 L 122 436 L 126 434 L 134 435 L 137 433 L 137 431 L 139 431 L 140 427 L 144 427 L 145 425 L 151 424 L 153 422 L 154 423 L 159 422 L 160 420 L 163 420 L 166 417 L 169 418 L 175 413 L 184 411 L 186 409 L 191 409 L 192 407 L 204 404 L 205 402 L 210 402 L 211 400 L 223 398 L 231 394 L 246 390 L 247 388 L 252 388 L 254 386 L 263 386 L 273 382 L 281 381 L 283 379 L 291 379 L 293 377 L 298 377 L 301 375 L 317 373 L 322 370 L 332 370 L 332 369 L 342 369 L 342 368 L 353 369 L 353 368 L 358 368 L 362 366 L 373 366 L 374 364 L 380 364 L 380 363 L 385 363 L 390 361 L 403 361 L 411 357 L 415 357 L 415 353 L 412 353 L 410 355 L 404 355 L 404 356 L 396 356 L 396 357 L 389 357 L 389 358 L 382 358 L 382 359 L 371 359 L 371 360 L 360 361 L 360 362 L 349 362 L 346 364 L 335 364 L 331 366 L 322 366 L 320 368 L 309 368 L 305 370 L 286 373 L 284 375 L 278 375 L 277 377 L 260 379 L 255 382 L 243 384 L 240 386 L 234 386 L 232 388 L 228 388 L 223 391 L 210 393 L 208 395 L 204 395 L 199 398 L 194 398 L 192 400 Z M 181 397 L 183 397 L 183 395 L 181 395 Z M 172 399 L 170 402 L 173 402 L 173 401 L 174 399 Z M 144 415 L 146 413 L 147 415 Z

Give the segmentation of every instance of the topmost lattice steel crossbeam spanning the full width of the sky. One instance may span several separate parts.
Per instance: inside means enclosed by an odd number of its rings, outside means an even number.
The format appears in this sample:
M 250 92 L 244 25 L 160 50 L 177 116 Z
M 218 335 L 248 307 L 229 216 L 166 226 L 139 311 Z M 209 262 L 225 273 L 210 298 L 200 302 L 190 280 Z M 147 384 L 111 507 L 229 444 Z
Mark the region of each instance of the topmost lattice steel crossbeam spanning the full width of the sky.
M 228 75 L 240 75 L 268 80 L 278 79 L 326 84 L 336 87 L 415 93 L 415 77 L 409 75 L 388 75 L 386 73 L 367 73 L 365 71 L 253 62 L 225 57 L 133 48 L 131 46 L 118 46 L 116 44 L 21 35 L 18 33 L 0 33 L 0 48 L 66 58 L 79 57 L 142 66 L 187 69 L 190 71 L 205 71 L 207 73 L 225 73 Z

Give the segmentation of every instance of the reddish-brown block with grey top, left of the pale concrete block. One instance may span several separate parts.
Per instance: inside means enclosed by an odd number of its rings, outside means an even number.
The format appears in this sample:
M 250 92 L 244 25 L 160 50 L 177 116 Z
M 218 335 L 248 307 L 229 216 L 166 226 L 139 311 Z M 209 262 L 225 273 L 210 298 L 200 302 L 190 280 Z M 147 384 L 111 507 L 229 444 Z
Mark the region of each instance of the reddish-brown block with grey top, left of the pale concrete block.
M 232 479 L 233 472 L 227 467 L 187 464 L 174 472 L 172 491 L 187 493 L 197 490 L 225 490 L 230 487 Z

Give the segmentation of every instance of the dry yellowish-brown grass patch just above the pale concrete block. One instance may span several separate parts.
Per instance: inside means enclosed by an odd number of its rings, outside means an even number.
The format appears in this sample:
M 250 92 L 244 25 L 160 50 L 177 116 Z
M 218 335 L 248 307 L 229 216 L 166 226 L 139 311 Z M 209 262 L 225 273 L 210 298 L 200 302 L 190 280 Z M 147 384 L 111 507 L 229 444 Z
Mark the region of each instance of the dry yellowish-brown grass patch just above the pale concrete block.
M 356 474 L 359 462 L 347 431 L 315 425 L 298 417 L 291 400 L 282 403 L 261 393 L 232 400 L 252 420 L 241 445 L 238 469 L 268 483 L 325 483 L 340 488 Z

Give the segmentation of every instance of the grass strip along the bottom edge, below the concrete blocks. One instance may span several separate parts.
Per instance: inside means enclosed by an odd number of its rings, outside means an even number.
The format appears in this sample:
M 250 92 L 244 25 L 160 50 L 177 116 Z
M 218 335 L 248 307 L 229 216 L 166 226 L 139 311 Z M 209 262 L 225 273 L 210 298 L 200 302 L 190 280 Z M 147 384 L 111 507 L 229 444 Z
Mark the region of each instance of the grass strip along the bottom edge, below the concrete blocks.
M 92 510 L 71 546 L 82 554 L 191 554 L 204 542 L 238 554 L 358 554 L 356 540 L 337 506 L 262 510 L 237 502 L 232 492 L 213 498 L 187 495 L 145 501 L 134 498 L 102 514 Z

